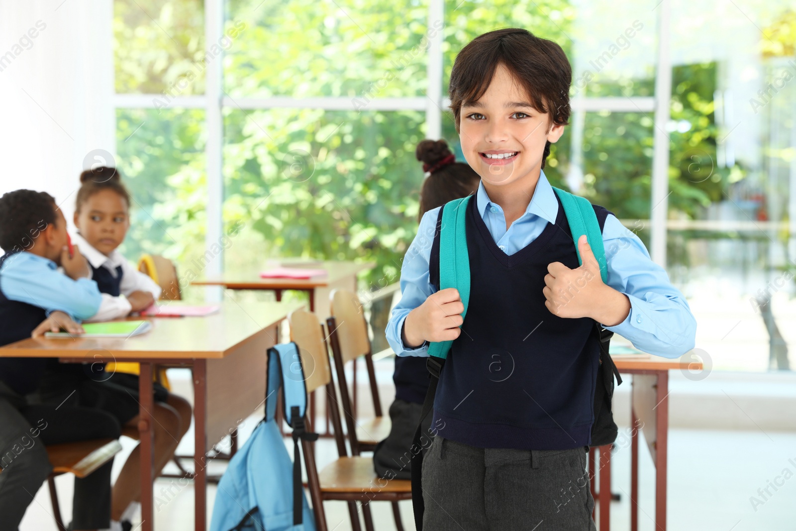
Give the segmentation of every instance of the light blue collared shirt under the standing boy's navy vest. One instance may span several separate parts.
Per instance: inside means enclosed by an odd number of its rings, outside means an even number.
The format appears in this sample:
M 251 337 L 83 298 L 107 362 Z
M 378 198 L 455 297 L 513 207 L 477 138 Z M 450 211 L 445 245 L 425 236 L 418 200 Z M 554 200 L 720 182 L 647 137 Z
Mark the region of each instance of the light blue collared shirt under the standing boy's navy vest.
M 558 214 L 556 193 L 540 172 L 528 208 L 508 229 L 500 205 L 490 201 L 483 182 L 476 193 L 478 213 L 489 229 L 495 243 L 507 255 L 515 252 L 540 235 L 548 223 L 555 223 Z M 427 343 L 408 349 L 401 340 L 404 319 L 420 306 L 436 289 L 428 280 L 428 261 L 434 241 L 439 209 L 423 214 L 417 236 L 408 248 L 401 266 L 401 299 L 392 310 L 387 324 L 387 340 L 399 356 L 427 356 Z M 607 285 L 627 295 L 630 313 L 608 330 L 628 339 L 644 352 L 665 357 L 679 357 L 694 348 L 696 319 L 683 294 L 669 282 L 669 275 L 650 260 L 650 253 L 633 232 L 609 214 L 603 226 L 603 243 L 608 269 Z M 574 242 L 573 242 L 574 245 Z

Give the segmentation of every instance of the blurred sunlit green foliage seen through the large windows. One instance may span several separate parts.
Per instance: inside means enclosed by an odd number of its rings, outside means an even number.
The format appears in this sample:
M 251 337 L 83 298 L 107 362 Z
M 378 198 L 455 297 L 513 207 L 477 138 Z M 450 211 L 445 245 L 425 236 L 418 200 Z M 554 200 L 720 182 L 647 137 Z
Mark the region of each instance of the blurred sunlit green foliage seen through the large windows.
M 224 111 L 224 228 L 243 229 L 224 267 L 257 271 L 278 256 L 373 260 L 377 267 L 366 283 L 396 281 L 416 232 L 423 173 L 414 149 L 425 135 L 424 113 L 376 111 L 367 102 L 424 96 L 427 2 L 230 0 L 226 10 L 225 29 L 240 32 L 224 57 L 224 87 L 233 102 Z M 446 83 L 462 45 L 502 26 L 533 28 L 571 54 L 567 34 L 575 17 L 567 0 L 446 2 Z M 201 94 L 202 18 L 199 0 L 115 0 L 117 92 L 169 91 L 193 72 L 179 93 Z M 638 95 L 651 93 L 653 84 L 622 80 L 617 87 Z M 588 94 L 605 96 L 617 87 L 589 85 Z M 728 182 L 745 175 L 714 167 L 715 90 L 716 64 L 674 69 L 671 217 L 700 217 Z M 364 106 L 247 111 L 236 105 L 239 98 L 270 96 L 340 96 Z M 119 167 L 136 200 L 125 244 L 131 258 L 158 252 L 190 267 L 204 252 L 203 117 L 174 108 L 117 112 Z M 580 192 L 620 218 L 648 218 L 652 127 L 651 113 L 587 113 Z M 443 137 L 457 148 L 450 112 L 443 113 Z M 552 146 L 545 169 L 564 188 L 570 137 L 568 131 Z

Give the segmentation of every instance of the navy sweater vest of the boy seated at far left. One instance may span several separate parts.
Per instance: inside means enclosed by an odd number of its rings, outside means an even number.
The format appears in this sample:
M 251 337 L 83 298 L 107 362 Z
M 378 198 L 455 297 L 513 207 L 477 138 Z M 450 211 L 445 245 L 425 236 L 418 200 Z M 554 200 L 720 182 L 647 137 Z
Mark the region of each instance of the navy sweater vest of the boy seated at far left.
M 0 267 L 12 254 L 0 257 Z M 43 308 L 10 300 L 0 289 L 0 346 L 29 338 L 46 317 Z M 47 361 L 45 357 L 0 357 L 0 380 L 21 395 L 33 392 Z

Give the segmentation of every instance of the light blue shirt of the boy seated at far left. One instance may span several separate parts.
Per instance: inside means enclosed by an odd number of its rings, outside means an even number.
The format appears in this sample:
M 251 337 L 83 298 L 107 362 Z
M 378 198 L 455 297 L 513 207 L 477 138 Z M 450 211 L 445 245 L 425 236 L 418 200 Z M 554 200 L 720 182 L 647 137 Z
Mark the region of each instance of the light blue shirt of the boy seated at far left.
M 44 308 L 48 315 L 60 310 L 81 321 L 96 314 L 102 302 L 97 283 L 72 280 L 57 269 L 55 262 L 44 256 L 18 252 L 0 268 L 0 290 L 10 300 Z

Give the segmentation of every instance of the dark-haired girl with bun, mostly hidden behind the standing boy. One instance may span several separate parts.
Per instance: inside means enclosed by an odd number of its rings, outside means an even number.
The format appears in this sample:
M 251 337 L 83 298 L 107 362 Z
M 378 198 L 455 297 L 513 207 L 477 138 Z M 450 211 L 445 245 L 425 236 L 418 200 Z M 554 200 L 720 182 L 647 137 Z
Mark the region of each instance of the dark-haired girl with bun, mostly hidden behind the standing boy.
M 429 210 L 478 190 L 481 178 L 466 163 L 456 162 L 445 140 L 423 140 L 417 145 L 415 156 L 423 162 L 427 174 L 420 187 L 418 221 Z M 433 233 L 428 235 L 429 246 L 433 237 Z M 412 475 L 409 449 L 428 390 L 428 371 L 425 357 L 396 356 L 395 360 L 392 381 L 396 385 L 396 400 L 390 405 L 392 428 L 373 452 L 373 467 L 381 478 L 409 479 Z M 430 424 L 428 416 L 423 430 L 428 431 Z

